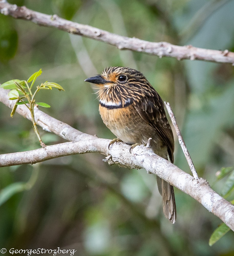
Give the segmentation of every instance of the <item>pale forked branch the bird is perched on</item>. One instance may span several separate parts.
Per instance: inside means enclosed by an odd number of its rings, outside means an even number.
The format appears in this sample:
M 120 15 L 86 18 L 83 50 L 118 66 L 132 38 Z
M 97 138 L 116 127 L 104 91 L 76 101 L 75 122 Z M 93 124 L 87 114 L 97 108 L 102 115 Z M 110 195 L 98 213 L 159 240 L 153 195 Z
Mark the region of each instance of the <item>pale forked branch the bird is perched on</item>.
M 8 100 L 7 93 L 8 90 L 0 88 L 0 101 L 11 108 L 14 101 Z M 19 105 L 16 112 L 31 120 L 26 106 Z M 37 108 L 35 109 L 35 120 L 43 129 L 73 142 L 46 146 L 27 152 L 3 154 L 0 155 L 0 166 L 36 163 L 71 154 L 101 153 L 107 156 L 105 162 L 109 164 L 117 163 L 127 168 L 144 168 L 147 172 L 168 181 L 200 202 L 234 231 L 234 205 L 212 190 L 206 180 L 194 179 L 169 161 L 155 155 L 150 148 L 143 145 L 136 146 L 130 154 L 129 145 L 118 143 L 111 145 L 108 150 L 110 140 L 82 133 Z

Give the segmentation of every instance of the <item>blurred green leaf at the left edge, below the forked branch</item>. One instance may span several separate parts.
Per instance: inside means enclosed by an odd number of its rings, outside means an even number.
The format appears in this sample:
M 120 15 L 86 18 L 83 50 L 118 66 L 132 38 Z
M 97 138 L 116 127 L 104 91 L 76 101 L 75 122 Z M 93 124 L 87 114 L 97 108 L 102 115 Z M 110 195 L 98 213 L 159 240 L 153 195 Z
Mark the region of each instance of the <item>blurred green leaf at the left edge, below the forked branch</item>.
M 14 194 L 25 190 L 25 182 L 16 182 L 8 185 L 0 191 L 0 206 L 4 204 Z

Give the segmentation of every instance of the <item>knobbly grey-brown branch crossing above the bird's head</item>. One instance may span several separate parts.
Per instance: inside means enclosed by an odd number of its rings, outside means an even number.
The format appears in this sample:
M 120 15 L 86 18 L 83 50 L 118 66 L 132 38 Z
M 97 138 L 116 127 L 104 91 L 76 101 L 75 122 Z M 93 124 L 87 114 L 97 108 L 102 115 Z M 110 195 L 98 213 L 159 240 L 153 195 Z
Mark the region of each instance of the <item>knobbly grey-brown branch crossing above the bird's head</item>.
M 177 58 L 178 60 L 196 59 L 212 62 L 231 63 L 234 65 L 234 52 L 229 52 L 228 50 L 218 51 L 202 49 L 193 47 L 191 45 L 177 46 L 168 42 L 149 42 L 134 37 L 129 38 L 125 36 L 119 36 L 95 27 L 62 19 L 57 15 L 47 15 L 35 12 L 26 8 L 25 6 L 19 7 L 15 4 L 12 5 L 1 0 L 0 12 L 4 15 L 12 16 L 16 19 L 29 20 L 41 26 L 55 27 L 71 34 L 99 40 L 116 46 L 120 50 L 128 49 L 133 51 L 146 52 L 148 54 L 158 55 L 159 58 L 167 56 Z

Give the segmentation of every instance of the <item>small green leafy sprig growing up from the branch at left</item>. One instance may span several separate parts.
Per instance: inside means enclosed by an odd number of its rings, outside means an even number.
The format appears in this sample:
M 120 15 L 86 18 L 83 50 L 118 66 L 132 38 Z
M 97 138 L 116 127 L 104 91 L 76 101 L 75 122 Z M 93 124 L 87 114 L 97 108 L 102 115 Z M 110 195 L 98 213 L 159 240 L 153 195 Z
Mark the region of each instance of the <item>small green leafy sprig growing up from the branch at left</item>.
M 40 85 L 38 85 L 34 91 L 34 93 L 32 93 L 32 87 L 37 79 L 37 77 L 39 77 L 41 75 L 42 71 L 41 69 L 38 70 L 37 72 L 33 73 L 27 81 L 25 80 L 10 80 L 7 81 L 5 83 L 3 83 L 0 87 L 2 87 L 3 89 L 10 89 L 9 93 L 8 93 L 8 97 L 9 100 L 17 100 L 13 106 L 12 112 L 10 114 L 11 117 L 14 116 L 16 108 L 18 105 L 22 105 L 25 104 L 25 106 L 29 109 L 30 113 L 31 113 L 31 117 L 32 117 L 32 124 L 34 127 L 34 131 L 38 137 L 38 140 L 41 144 L 41 146 L 45 146 L 45 144 L 42 142 L 41 140 L 41 136 L 38 132 L 37 126 L 36 126 L 36 122 L 35 122 L 35 118 L 34 118 L 34 106 L 35 104 L 42 106 L 44 108 L 50 108 L 50 105 L 44 102 L 36 102 L 35 101 L 35 97 L 36 94 L 40 91 L 40 90 L 52 90 L 52 88 L 57 88 L 59 91 L 64 89 L 62 88 L 62 86 L 60 86 L 57 83 L 54 82 L 44 82 L 41 83 Z M 29 83 L 30 86 L 29 86 Z M 23 96 L 20 96 L 23 95 Z

